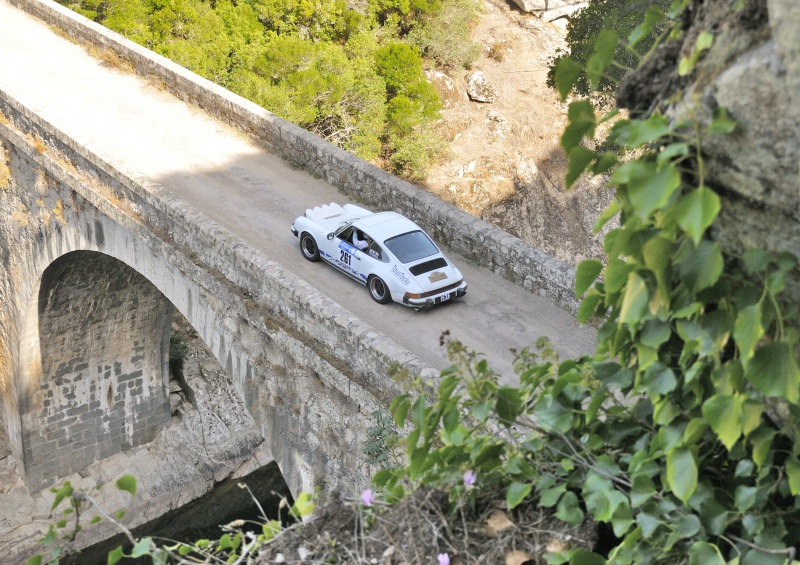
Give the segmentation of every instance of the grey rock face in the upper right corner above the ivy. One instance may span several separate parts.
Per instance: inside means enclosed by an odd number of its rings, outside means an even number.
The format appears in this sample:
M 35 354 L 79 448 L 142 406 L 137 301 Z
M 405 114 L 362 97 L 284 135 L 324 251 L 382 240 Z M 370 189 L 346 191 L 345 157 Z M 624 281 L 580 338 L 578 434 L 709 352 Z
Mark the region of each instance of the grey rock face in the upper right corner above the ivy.
M 684 14 L 681 42 L 664 45 L 628 77 L 618 102 L 643 111 L 667 106 L 676 118 L 708 123 L 718 107 L 738 126 L 731 135 L 701 138 L 706 184 L 722 197 L 714 237 L 734 251 L 800 249 L 800 3 L 694 0 Z M 686 77 L 677 74 L 702 31 L 713 46 Z M 674 100 L 674 99 L 673 99 Z

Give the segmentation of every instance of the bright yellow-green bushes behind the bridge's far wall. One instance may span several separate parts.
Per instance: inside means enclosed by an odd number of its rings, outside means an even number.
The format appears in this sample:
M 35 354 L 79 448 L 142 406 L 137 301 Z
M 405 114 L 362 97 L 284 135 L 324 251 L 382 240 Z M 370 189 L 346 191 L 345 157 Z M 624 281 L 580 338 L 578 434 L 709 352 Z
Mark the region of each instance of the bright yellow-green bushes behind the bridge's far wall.
M 367 160 L 424 178 L 444 66 L 476 56 L 474 0 L 79 0 L 70 8 Z M 413 32 L 409 36 L 409 32 Z M 383 79 L 383 80 L 382 80 Z M 401 98 L 404 97 L 404 98 Z

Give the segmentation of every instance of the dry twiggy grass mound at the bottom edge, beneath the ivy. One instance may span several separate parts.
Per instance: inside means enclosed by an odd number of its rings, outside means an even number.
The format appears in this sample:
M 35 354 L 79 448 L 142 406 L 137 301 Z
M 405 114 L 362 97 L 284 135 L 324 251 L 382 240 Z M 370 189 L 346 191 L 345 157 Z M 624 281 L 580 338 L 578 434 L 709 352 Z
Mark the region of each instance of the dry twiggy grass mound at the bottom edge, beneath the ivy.
M 425 488 L 393 507 L 366 511 L 334 498 L 267 545 L 257 563 L 430 565 L 446 553 L 453 565 L 540 565 L 548 548 L 594 546 L 593 524 L 569 527 L 535 505 L 509 512 L 502 493 L 493 494 L 451 515 L 447 494 Z

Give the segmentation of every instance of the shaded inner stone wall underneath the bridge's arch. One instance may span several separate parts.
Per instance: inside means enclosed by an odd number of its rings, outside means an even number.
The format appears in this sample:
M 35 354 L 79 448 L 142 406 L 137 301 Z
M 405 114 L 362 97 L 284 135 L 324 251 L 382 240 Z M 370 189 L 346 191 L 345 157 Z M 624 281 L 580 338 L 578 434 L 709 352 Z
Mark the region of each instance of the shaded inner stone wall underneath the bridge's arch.
M 151 441 L 169 421 L 172 304 L 95 251 L 55 259 L 33 290 L 18 398 L 21 470 L 37 491 Z

